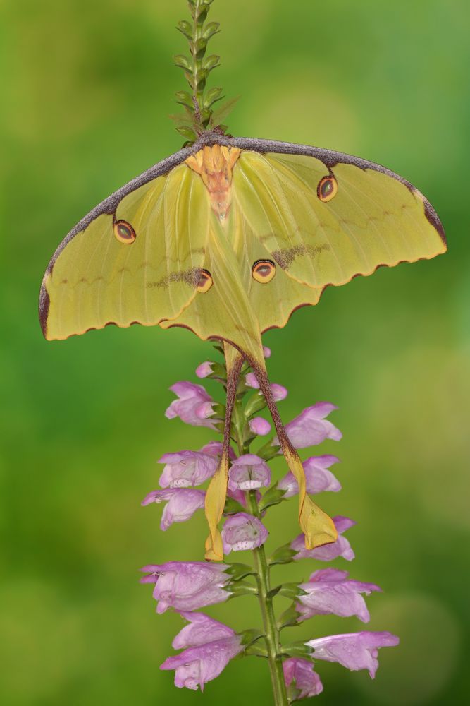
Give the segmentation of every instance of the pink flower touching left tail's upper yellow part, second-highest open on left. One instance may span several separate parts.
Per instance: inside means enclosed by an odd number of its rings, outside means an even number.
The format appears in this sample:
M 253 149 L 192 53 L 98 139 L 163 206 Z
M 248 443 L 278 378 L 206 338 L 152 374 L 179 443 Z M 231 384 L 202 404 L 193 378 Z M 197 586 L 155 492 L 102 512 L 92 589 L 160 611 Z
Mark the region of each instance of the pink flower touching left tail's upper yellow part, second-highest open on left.
M 161 488 L 190 488 L 197 486 L 216 472 L 218 458 L 202 451 L 178 451 L 166 453 L 158 461 L 164 463 L 159 478 Z

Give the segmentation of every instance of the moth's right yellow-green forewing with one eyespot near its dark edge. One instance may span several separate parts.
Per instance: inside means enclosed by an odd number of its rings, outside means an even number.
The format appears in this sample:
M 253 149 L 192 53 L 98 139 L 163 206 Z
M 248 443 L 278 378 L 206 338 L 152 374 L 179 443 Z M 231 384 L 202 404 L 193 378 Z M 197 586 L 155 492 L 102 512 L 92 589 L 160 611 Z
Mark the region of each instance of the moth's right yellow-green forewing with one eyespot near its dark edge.
M 375 164 L 341 157 L 240 156 L 234 193 L 245 232 L 292 282 L 342 285 L 381 265 L 445 251 L 438 217 L 417 189 Z

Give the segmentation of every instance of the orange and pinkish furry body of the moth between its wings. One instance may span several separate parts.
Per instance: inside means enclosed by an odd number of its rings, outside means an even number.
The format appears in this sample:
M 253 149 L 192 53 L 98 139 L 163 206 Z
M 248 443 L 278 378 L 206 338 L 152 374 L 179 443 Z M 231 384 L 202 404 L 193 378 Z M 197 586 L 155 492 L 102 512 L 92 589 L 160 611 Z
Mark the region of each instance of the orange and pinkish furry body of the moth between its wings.
M 219 220 L 224 221 L 232 202 L 233 168 L 240 157 L 236 147 L 206 146 L 188 157 L 186 164 L 200 174 L 209 191 L 211 206 Z

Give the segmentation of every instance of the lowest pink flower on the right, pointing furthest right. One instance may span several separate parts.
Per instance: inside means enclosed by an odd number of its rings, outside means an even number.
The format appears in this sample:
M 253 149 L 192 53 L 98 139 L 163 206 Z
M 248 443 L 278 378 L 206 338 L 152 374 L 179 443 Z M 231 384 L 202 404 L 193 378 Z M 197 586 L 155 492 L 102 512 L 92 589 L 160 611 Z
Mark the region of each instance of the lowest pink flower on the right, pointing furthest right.
M 311 647 L 315 659 L 326 662 L 338 662 L 351 671 L 368 669 L 371 679 L 378 669 L 379 647 L 395 647 L 400 640 L 392 633 L 349 633 L 330 635 L 328 638 L 309 640 L 305 644 Z

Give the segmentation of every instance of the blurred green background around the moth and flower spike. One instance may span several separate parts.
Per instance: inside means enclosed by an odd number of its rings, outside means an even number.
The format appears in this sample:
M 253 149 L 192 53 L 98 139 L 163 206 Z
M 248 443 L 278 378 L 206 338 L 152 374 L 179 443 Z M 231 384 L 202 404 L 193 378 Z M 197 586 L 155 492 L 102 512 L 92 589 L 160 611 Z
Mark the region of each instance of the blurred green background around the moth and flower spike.
M 183 0 L 3 0 L 1 8 L 0 700 L 8 706 L 271 703 L 268 667 L 231 663 L 202 696 L 159 671 L 180 629 L 156 616 L 144 563 L 202 558 L 202 513 L 159 531 L 156 460 L 213 436 L 163 416 L 209 344 L 185 330 L 107 328 L 47 343 L 37 294 L 58 242 L 98 201 L 180 148 L 168 114 Z M 469 657 L 469 68 L 466 0 L 216 0 L 217 83 L 242 94 L 238 136 L 292 140 L 386 164 L 419 186 L 450 243 L 430 262 L 329 288 L 269 332 L 288 421 L 330 400 L 344 433 L 354 578 L 381 651 L 375 681 L 318 663 L 325 705 L 464 704 Z M 210 388 L 216 393 L 216 388 Z M 279 466 L 279 472 L 281 472 Z M 269 547 L 297 534 L 271 511 Z M 248 558 L 248 557 L 247 557 Z M 322 565 L 323 567 L 323 565 Z M 320 568 L 303 562 L 290 580 Z M 281 573 L 279 573 L 281 575 Z M 281 607 L 281 605 L 279 605 Z M 259 622 L 253 599 L 208 612 Z M 290 639 L 361 629 L 321 617 Z

